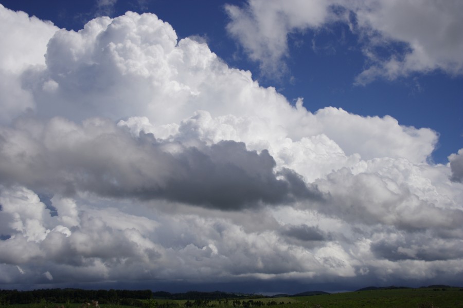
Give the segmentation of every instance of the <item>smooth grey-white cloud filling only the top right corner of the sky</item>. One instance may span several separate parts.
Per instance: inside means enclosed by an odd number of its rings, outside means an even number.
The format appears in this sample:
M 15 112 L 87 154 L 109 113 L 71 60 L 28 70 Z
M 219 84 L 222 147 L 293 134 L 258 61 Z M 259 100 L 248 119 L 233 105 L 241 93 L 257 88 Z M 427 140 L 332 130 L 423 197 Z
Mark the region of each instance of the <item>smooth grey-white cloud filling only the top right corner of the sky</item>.
M 359 30 L 370 36 L 365 54 L 373 55 L 372 65 L 357 77 L 357 83 L 365 84 L 378 77 L 394 80 L 414 72 L 435 70 L 451 75 L 463 73 L 461 2 L 376 1 L 354 10 Z M 404 43 L 406 51 L 393 52 L 389 59 L 378 59 L 374 48 L 384 42 Z

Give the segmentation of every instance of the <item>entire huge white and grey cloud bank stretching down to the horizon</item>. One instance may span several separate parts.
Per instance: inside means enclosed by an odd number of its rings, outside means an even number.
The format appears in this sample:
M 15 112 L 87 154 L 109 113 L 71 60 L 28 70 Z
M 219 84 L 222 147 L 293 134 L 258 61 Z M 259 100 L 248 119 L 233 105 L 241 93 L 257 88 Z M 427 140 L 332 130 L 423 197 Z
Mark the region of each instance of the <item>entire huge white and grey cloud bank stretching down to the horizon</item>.
M 0 15 L 0 285 L 461 277 L 435 131 L 291 105 L 154 14 Z

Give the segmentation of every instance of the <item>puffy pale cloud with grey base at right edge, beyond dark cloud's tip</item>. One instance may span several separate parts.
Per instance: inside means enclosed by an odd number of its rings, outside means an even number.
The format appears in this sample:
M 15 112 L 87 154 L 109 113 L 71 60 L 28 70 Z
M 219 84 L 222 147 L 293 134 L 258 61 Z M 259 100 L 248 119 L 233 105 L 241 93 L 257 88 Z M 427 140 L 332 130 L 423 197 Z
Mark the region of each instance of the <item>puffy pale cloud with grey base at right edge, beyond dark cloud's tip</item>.
M 389 166 L 381 160 L 369 164 L 358 173 L 343 168 L 332 172 L 326 179 L 316 181 L 316 186 L 322 192 L 329 191 L 332 198 L 328 201 L 330 206 L 322 206 L 319 211 L 335 217 L 341 216 L 351 223 L 381 223 L 409 232 L 458 228 L 463 211 L 461 208 L 436 206 L 434 202 L 447 203 L 448 196 L 426 196 L 426 189 L 435 187 L 431 183 L 421 182 L 423 176 L 420 176 L 422 171 L 419 168 L 406 166 L 408 163 L 400 160 Z M 376 169 L 376 172 L 372 172 L 372 169 Z M 420 182 L 414 183 L 415 176 Z M 403 181 L 399 177 L 408 179 Z

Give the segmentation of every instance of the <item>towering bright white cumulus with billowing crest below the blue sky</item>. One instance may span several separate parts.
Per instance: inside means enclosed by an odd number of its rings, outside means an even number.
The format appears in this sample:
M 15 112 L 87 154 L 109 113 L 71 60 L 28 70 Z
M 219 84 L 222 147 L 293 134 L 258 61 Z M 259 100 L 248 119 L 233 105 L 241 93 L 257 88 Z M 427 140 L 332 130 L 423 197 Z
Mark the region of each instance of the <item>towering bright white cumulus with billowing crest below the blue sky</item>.
M 414 162 L 431 155 L 437 141 L 432 130 L 400 126 L 390 117 L 363 118 L 335 108 L 312 114 L 301 101 L 294 108 L 274 88 L 260 87 L 250 72 L 229 68 L 207 45 L 188 38 L 177 42 L 172 27 L 153 14 L 128 12 L 114 20 L 96 18 L 79 32 L 60 30 L 45 59 L 46 67 L 24 72 L 20 85 L 43 118 L 138 116 L 169 133 L 185 121 L 185 130 L 207 132 L 204 137 L 214 142 L 231 139 L 269 149 L 275 159 L 273 147 L 289 142 L 286 138 L 299 142 L 321 134 L 349 156 Z M 331 124 L 333 117 L 340 125 Z

